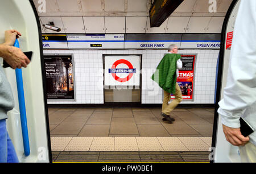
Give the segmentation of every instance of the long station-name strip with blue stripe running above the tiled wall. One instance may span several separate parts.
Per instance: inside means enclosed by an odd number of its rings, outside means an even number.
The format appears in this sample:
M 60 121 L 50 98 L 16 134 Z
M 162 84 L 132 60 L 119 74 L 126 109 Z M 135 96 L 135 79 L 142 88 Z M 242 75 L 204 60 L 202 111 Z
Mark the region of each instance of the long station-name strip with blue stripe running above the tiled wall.
M 167 49 L 171 44 L 179 49 L 220 49 L 218 34 L 68 34 L 42 38 L 44 49 Z M 227 47 L 229 44 L 227 40 Z

